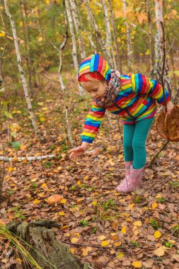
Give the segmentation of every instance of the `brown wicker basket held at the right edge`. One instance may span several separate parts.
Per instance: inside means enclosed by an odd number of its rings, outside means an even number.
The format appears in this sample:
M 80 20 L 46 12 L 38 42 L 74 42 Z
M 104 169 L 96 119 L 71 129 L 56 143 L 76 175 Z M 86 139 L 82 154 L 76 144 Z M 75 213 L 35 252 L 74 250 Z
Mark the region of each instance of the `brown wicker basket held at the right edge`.
M 174 105 L 171 115 L 160 113 L 156 121 L 158 134 L 172 142 L 179 142 L 179 105 Z

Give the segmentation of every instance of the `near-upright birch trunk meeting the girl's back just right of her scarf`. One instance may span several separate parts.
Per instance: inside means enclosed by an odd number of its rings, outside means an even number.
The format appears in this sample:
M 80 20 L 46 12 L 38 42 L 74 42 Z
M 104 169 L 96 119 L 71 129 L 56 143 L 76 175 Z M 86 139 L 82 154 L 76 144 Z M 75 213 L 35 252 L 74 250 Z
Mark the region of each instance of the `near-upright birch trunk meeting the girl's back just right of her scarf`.
M 108 16 L 108 6 L 106 5 L 105 0 L 101 0 L 101 4 L 103 6 L 103 13 L 105 16 L 105 29 L 106 29 L 106 48 L 112 52 L 112 59 L 110 55 L 110 61 L 113 62 L 112 68 L 117 69 L 116 67 L 116 62 L 115 62 L 115 54 L 112 46 L 112 35 L 111 35 L 111 30 L 110 30 L 110 18 Z

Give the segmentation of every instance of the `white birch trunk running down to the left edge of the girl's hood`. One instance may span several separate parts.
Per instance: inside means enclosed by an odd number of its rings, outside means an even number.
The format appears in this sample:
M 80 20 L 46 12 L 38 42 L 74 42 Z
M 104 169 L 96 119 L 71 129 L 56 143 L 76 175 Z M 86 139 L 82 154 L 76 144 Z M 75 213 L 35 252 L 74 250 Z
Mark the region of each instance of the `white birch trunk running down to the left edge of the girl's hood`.
M 77 58 L 77 48 L 76 48 L 76 39 L 75 39 L 75 33 L 74 33 L 74 25 L 73 25 L 73 20 L 71 17 L 71 11 L 70 11 L 70 7 L 69 7 L 69 0 L 65 0 L 65 7 L 66 7 L 66 11 L 67 11 L 67 18 L 69 21 L 69 30 L 71 33 L 71 40 L 72 40 L 72 57 L 74 60 L 74 69 L 76 71 L 76 74 L 78 74 L 79 72 L 79 63 L 78 63 L 78 58 Z M 79 86 L 79 95 L 83 96 L 84 95 L 84 91 L 83 88 L 78 84 Z

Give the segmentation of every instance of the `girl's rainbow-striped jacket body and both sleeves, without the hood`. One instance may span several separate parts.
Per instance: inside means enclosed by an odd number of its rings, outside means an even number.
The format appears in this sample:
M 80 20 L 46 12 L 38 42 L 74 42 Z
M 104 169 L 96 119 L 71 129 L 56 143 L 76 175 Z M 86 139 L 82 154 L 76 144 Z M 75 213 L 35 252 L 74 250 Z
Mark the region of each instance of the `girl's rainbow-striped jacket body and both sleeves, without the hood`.
M 150 79 L 148 76 L 142 74 L 122 74 L 120 78 L 121 86 L 116 103 L 121 109 L 115 105 L 101 108 L 93 101 L 81 134 L 82 142 L 93 142 L 106 109 L 112 114 L 120 115 L 122 123 L 133 124 L 139 120 L 153 117 L 156 113 L 156 101 L 164 105 L 163 88 L 154 79 Z M 168 103 L 170 96 L 166 89 L 165 93 Z M 130 118 L 124 108 L 127 108 L 135 120 Z

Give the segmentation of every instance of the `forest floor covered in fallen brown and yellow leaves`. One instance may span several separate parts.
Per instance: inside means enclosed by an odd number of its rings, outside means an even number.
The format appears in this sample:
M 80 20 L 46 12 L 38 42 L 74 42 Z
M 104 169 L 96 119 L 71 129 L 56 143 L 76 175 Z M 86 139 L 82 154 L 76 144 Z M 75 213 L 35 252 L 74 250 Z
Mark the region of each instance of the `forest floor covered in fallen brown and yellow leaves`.
M 12 157 L 4 163 L 3 202 L 0 222 L 37 219 L 57 221 L 53 228 L 58 240 L 65 242 L 81 261 L 91 268 L 179 268 L 179 144 L 169 143 L 154 164 L 144 172 L 144 184 L 138 193 L 122 194 L 115 187 L 125 176 L 122 155 L 122 125 L 110 115 L 90 149 L 75 161 L 69 160 L 70 147 L 64 128 L 64 108 L 57 75 L 43 81 L 33 96 L 35 116 L 44 144 L 35 137 L 24 109 L 23 93 L 11 105 L 11 133 L 21 142 L 18 151 L 7 141 L 7 122 L 4 122 L 1 156 Z M 55 82 L 56 81 L 56 82 Z M 73 81 L 72 81 L 73 82 Z M 69 120 L 74 144 L 80 144 L 83 122 L 90 108 L 88 98 L 79 98 L 73 84 L 67 87 Z M 21 98 L 22 96 L 22 98 Z M 155 123 L 146 142 L 147 162 L 162 147 Z M 18 156 L 55 154 L 54 159 L 17 161 Z M 1 171 L 3 162 L 1 161 Z M 47 203 L 50 195 L 63 199 Z M 11 268 L 16 258 L 6 258 L 9 244 L 1 241 L 1 268 Z

